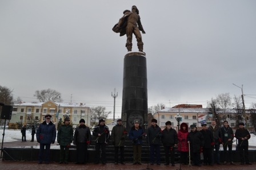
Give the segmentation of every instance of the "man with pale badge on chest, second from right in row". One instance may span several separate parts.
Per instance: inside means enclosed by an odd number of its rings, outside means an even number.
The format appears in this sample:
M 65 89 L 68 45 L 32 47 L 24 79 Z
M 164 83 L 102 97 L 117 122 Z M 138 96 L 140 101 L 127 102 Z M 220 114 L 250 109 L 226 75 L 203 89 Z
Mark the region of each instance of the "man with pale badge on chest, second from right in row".
M 222 145 L 224 150 L 224 163 L 223 165 L 227 164 L 227 147 L 229 147 L 229 161 L 231 165 L 235 165 L 232 160 L 232 143 L 234 139 L 234 132 L 232 128 L 229 127 L 229 122 L 224 121 L 223 127 L 221 128 L 222 131 Z

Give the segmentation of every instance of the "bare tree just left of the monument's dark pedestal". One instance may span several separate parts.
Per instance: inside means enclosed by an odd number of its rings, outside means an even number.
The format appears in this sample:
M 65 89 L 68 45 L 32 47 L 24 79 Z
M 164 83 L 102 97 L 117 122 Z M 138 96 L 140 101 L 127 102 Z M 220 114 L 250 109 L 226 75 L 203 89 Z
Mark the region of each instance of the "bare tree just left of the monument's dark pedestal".
M 95 123 L 98 122 L 99 119 L 106 120 L 106 118 L 109 116 L 111 111 L 107 112 L 105 110 L 106 110 L 106 107 L 104 106 L 97 106 L 97 107 L 91 108 L 91 120 L 93 125 L 95 125 Z

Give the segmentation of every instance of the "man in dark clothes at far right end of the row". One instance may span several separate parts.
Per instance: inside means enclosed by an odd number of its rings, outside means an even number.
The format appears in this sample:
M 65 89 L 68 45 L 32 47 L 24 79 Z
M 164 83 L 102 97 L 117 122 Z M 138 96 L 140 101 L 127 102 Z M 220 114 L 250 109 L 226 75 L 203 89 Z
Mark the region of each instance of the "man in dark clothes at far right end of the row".
M 235 131 L 235 138 L 238 139 L 241 165 L 245 163 L 251 165 L 248 159 L 248 140 L 251 138 L 251 135 L 243 126 L 245 126 L 243 122 L 239 123 L 239 128 Z M 243 158 L 243 152 L 245 152 L 245 158 Z

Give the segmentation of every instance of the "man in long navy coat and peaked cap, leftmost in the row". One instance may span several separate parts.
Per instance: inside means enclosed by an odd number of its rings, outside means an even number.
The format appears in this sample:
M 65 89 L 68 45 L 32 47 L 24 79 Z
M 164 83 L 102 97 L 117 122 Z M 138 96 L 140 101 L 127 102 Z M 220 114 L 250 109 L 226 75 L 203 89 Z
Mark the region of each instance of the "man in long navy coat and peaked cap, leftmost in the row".
M 50 146 L 56 139 L 56 128 L 51 122 L 51 115 L 46 115 L 43 123 L 37 128 L 37 142 L 40 143 L 39 162 L 42 164 L 43 151 L 45 150 L 45 163 L 49 164 Z

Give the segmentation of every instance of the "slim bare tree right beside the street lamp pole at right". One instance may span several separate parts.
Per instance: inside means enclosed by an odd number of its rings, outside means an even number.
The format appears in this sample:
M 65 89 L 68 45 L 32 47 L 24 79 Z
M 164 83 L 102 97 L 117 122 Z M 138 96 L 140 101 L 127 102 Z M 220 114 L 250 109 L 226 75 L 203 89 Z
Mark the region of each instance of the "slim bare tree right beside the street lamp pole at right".
M 234 107 L 235 114 L 235 127 L 239 127 L 238 124 L 243 120 L 243 103 L 241 96 L 234 96 L 232 106 Z

